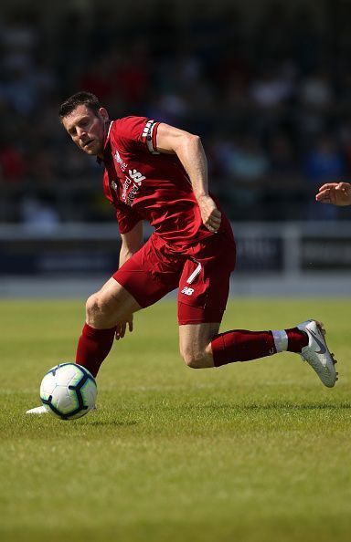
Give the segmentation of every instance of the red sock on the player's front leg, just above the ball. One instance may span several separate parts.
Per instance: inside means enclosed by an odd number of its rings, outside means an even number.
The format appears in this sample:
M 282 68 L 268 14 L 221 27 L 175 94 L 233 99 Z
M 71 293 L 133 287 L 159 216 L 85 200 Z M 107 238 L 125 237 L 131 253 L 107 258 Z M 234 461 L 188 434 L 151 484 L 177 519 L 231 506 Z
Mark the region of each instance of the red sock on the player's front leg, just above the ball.
M 76 362 L 96 376 L 102 361 L 112 349 L 116 328 L 95 329 L 84 325 L 78 341 Z

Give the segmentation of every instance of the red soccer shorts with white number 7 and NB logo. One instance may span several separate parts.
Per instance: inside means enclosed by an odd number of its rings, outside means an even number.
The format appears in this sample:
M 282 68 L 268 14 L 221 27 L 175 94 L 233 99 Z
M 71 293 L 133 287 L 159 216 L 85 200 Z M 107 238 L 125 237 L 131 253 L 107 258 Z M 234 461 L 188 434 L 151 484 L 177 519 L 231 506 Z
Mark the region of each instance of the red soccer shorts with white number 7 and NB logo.
M 180 325 L 220 322 L 229 296 L 236 249 L 228 233 L 186 247 L 186 254 L 153 234 L 113 275 L 141 307 L 149 307 L 179 287 Z

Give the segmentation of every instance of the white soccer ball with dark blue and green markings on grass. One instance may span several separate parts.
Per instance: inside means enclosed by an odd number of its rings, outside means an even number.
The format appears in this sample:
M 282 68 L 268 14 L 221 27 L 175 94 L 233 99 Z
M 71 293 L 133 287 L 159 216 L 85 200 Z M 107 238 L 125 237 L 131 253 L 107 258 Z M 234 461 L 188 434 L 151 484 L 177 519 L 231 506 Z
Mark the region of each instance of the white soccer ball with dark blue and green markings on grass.
M 89 370 L 77 363 L 60 363 L 40 384 L 40 399 L 61 420 L 75 420 L 94 406 L 98 389 Z

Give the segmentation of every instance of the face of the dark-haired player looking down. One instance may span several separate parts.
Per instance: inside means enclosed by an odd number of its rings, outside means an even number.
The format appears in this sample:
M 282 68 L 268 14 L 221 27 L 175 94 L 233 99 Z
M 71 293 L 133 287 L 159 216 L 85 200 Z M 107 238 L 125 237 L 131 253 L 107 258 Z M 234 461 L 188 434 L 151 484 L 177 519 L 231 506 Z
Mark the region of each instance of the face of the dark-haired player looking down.
M 99 109 L 96 115 L 87 106 L 80 105 L 62 119 L 62 124 L 82 151 L 102 156 L 108 121 L 106 109 Z

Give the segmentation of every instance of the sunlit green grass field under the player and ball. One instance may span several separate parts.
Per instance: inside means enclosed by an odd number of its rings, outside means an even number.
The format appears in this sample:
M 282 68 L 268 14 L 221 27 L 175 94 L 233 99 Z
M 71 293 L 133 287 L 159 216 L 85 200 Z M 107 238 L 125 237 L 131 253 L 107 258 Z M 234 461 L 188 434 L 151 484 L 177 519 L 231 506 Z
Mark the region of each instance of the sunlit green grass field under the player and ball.
M 334 390 L 289 353 L 186 368 L 167 301 L 115 345 L 98 412 L 26 416 L 43 373 L 72 360 L 83 311 L 0 302 L 1 542 L 349 542 L 351 298 L 231 300 L 222 326 L 322 319 Z

